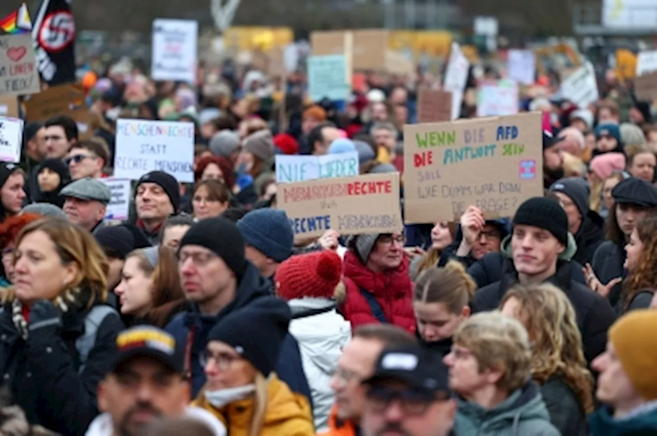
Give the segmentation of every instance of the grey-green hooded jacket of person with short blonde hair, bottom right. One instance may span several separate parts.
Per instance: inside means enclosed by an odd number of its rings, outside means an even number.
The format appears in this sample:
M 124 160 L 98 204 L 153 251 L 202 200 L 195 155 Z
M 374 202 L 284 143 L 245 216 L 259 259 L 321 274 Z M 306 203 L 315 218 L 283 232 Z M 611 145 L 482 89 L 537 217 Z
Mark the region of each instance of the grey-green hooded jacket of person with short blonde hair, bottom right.
M 492 409 L 459 398 L 454 430 L 459 436 L 560 436 L 534 382 Z

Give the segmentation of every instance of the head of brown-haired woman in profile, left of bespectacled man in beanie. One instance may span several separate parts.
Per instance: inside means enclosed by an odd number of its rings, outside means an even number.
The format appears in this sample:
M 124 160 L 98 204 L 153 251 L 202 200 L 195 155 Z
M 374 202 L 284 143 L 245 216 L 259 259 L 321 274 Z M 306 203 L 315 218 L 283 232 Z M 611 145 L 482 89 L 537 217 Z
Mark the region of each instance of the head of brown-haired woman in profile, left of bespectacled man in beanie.
M 114 288 L 121 313 L 129 325 L 150 324 L 164 328 L 185 309 L 178 262 L 171 248 L 139 248 L 125 258 L 121 281 Z

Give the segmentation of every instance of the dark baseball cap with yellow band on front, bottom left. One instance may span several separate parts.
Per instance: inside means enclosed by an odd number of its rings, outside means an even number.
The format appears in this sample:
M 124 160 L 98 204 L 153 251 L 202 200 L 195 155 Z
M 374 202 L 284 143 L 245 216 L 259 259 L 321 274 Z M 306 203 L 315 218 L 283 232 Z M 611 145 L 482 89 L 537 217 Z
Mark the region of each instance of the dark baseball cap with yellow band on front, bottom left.
M 184 359 L 175 347 L 173 336 L 160 328 L 140 325 L 124 330 L 116 337 L 118 355 L 112 372 L 120 372 L 135 358 L 148 357 L 173 372 L 183 373 Z

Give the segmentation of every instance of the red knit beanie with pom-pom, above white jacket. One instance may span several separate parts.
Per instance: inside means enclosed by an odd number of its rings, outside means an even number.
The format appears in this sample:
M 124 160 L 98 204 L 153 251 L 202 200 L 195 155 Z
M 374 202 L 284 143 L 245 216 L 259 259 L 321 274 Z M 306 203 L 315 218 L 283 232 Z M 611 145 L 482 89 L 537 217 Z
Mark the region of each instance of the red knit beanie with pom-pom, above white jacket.
M 277 293 L 284 300 L 332 298 L 342 279 L 342 260 L 332 250 L 292 256 L 276 269 Z

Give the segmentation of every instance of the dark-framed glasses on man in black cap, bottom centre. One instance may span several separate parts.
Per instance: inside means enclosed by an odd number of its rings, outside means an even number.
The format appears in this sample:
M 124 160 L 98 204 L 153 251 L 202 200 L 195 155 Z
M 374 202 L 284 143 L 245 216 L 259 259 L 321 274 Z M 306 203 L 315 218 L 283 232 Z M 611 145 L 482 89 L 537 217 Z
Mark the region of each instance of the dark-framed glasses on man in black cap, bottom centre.
M 421 415 L 434 401 L 446 400 L 447 393 L 438 395 L 430 391 L 419 389 L 405 389 L 403 391 L 389 389 L 383 386 L 373 386 L 367 391 L 367 403 L 374 412 L 383 412 L 393 401 L 399 401 L 401 410 L 409 415 Z

